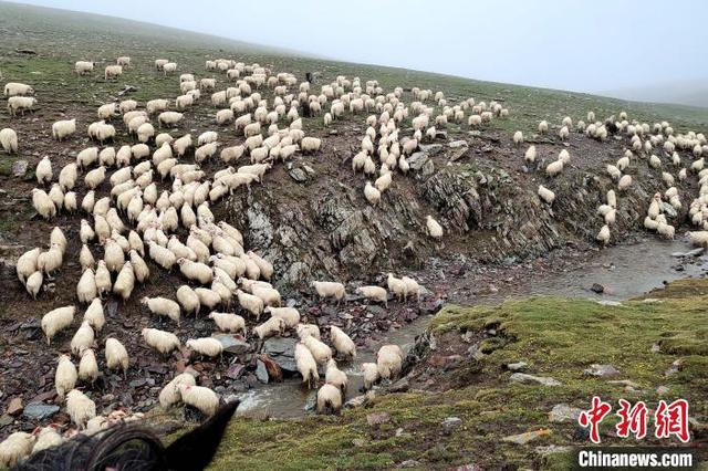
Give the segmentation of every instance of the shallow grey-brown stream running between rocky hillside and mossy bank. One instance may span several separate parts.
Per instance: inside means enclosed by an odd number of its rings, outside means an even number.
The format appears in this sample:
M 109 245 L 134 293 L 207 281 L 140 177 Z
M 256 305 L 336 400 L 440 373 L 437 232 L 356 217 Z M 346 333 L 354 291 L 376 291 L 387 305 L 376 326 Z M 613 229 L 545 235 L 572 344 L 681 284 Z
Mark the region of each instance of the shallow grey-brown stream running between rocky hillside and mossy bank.
M 529 295 L 556 295 L 565 297 L 585 297 L 592 300 L 620 301 L 644 294 L 662 287 L 665 282 L 684 278 L 697 278 L 708 270 L 708 258 L 695 259 L 695 263 L 683 264 L 684 271 L 674 268 L 679 259 L 675 252 L 688 252 L 691 247 L 683 241 L 660 241 L 647 239 L 631 245 L 616 245 L 600 251 L 583 268 L 559 273 L 545 273 L 541 279 L 500 290 L 498 293 L 480 296 L 471 304 L 498 304 L 508 299 L 522 299 Z M 605 286 L 597 294 L 590 290 L 593 283 Z M 450 299 L 451 303 L 460 302 Z M 470 304 L 469 301 L 466 304 Z M 418 317 L 397 331 L 385 333 L 374 345 L 357 350 L 355 362 L 342 363 L 340 368 L 348 376 L 346 399 L 358 396 L 363 385 L 360 365 L 373 362 L 381 345 L 397 344 L 404 350 L 420 334 L 429 316 Z M 323 376 L 323 375 L 321 375 Z M 314 402 L 316 393 L 309 391 L 298 378 L 283 383 L 262 385 L 239 396 L 241 404 L 238 414 L 247 417 L 301 417 L 308 412 L 308 406 Z M 345 400 L 346 400 L 345 399 Z

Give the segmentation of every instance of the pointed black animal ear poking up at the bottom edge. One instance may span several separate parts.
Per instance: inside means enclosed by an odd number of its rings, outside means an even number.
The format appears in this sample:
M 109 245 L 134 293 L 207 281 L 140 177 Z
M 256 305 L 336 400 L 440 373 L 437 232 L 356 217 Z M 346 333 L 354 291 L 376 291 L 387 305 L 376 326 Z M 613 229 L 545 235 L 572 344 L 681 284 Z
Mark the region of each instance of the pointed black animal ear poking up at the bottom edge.
M 167 447 L 165 450 L 167 469 L 185 471 L 205 469 L 217 452 L 226 427 L 238 406 L 238 400 L 227 404 L 209 420 Z

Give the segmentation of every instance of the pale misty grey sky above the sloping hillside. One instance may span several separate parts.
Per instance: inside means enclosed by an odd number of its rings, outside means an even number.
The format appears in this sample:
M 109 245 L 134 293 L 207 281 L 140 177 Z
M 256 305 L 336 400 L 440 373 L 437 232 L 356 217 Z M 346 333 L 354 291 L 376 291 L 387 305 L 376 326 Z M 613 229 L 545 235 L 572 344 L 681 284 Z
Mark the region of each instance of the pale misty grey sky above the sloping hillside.
M 604 92 L 708 82 L 708 2 L 700 0 L 23 2 L 523 85 Z

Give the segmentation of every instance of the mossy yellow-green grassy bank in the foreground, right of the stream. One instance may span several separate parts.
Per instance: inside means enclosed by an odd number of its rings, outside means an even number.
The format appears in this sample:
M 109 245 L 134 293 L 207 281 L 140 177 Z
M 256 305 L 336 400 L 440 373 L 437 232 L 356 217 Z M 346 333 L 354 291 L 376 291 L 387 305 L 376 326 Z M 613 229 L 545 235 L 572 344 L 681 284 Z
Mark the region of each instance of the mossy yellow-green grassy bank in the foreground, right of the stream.
M 706 281 L 690 284 L 701 291 L 708 286 Z M 542 457 L 535 447 L 589 442 L 577 433 L 574 421 L 549 420 L 553 406 L 564 402 L 585 409 L 592 395 L 600 395 L 615 408 L 624 397 L 633 402 L 645 400 L 653 409 L 659 386 L 668 388 L 662 396 L 665 399 L 688 399 L 691 417 L 705 423 L 708 296 L 685 294 L 685 290 L 675 293 L 676 297 L 669 295 L 660 302 L 629 301 L 621 306 L 546 297 L 497 307 L 448 306 L 430 324 L 436 350 L 416 367 L 416 373 L 425 371 L 433 379 L 428 383 L 435 385 L 435 393 L 378 396 L 371 407 L 345 411 L 342 417 L 235 419 L 212 467 L 272 469 L 277 463 L 281 469 L 362 469 L 392 468 L 415 460 L 427 469 L 466 463 L 483 469 L 504 463 L 566 469 L 570 452 Z M 469 331 L 469 337 L 479 339 L 490 328 L 497 335 L 479 342 L 488 355 L 477 364 L 467 353 L 470 344 L 461 336 Z M 659 353 L 652 353 L 655 344 L 660 346 Z M 454 359 L 446 362 L 450 357 Z M 678 359 L 678 373 L 667 376 Z M 519 360 L 529 364 L 529 374 L 552 377 L 562 385 L 511 383 L 504 365 Z M 595 363 L 610 364 L 621 373 L 612 377 L 585 375 L 583 370 Z M 459 384 L 461 377 L 466 378 L 464 386 L 449 386 Z M 633 385 L 610 383 L 616 380 Z M 367 416 L 375 412 L 387 412 L 389 419 L 371 426 Z M 462 419 L 462 425 L 446 432 L 441 422 L 448 417 Z M 631 440 L 608 436 L 615 421 L 613 417 L 603 422 L 603 440 L 631 444 Z M 705 441 L 701 427 L 694 427 L 694 440 Z M 507 436 L 542 429 L 551 432 L 529 444 L 502 441 Z

